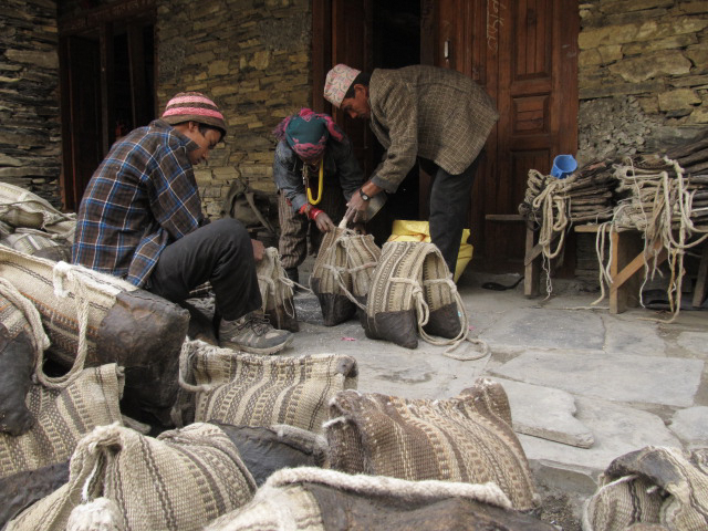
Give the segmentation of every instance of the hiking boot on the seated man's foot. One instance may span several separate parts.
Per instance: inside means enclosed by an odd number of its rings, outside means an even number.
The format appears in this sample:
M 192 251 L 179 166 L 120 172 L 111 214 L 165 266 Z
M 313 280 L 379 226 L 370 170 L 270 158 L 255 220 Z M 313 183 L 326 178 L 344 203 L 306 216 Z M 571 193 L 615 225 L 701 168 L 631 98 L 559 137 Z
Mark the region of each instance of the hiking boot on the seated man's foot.
M 236 321 L 221 320 L 219 346 L 253 354 L 275 354 L 292 342 L 292 333 L 275 330 L 263 315 L 256 311 Z

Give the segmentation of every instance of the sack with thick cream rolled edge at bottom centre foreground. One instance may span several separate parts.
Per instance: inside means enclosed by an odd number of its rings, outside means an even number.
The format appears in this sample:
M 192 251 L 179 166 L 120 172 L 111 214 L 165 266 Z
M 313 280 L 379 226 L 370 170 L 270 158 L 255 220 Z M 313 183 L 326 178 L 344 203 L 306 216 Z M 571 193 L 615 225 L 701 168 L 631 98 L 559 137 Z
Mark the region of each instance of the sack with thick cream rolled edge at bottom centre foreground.
M 510 509 L 493 483 L 350 476 L 333 470 L 280 470 L 247 506 L 207 531 L 553 531 Z

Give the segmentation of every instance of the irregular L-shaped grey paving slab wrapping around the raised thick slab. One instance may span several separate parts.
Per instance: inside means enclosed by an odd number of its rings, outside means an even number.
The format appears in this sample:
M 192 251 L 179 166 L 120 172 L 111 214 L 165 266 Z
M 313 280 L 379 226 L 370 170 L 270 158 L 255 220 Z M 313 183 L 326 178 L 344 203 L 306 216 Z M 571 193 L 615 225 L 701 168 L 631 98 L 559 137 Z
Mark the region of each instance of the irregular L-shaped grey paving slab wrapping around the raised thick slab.
M 654 414 L 592 398 L 576 398 L 575 403 L 577 419 L 595 436 L 593 447 L 576 448 L 519 435 L 529 460 L 573 471 L 584 470 L 596 479 L 613 459 L 629 451 L 649 445 L 681 448 L 680 440 Z

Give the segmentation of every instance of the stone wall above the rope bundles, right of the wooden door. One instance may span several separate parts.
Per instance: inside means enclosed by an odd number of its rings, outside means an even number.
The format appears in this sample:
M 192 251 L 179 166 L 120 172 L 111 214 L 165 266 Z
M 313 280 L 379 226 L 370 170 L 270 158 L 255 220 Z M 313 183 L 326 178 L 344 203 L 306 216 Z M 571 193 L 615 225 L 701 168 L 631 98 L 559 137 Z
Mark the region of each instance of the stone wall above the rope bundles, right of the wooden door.
M 580 3 L 579 159 L 659 153 L 708 128 L 708 2 Z

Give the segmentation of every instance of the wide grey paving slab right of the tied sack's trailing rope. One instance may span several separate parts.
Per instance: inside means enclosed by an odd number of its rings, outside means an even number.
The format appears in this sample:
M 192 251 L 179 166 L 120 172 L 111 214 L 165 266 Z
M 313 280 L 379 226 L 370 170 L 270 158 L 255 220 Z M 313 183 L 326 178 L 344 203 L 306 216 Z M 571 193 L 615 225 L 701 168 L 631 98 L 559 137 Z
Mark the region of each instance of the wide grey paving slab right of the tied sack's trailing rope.
M 525 345 L 541 348 L 594 348 L 604 344 L 604 326 L 598 315 L 564 310 L 513 310 L 483 331 L 490 345 Z

